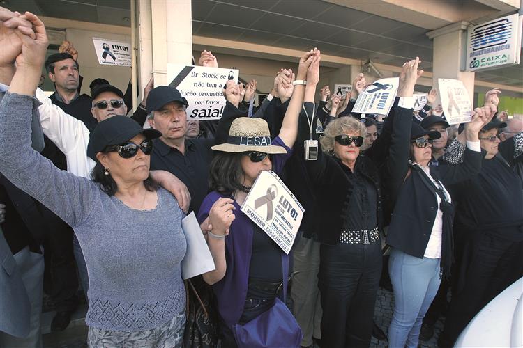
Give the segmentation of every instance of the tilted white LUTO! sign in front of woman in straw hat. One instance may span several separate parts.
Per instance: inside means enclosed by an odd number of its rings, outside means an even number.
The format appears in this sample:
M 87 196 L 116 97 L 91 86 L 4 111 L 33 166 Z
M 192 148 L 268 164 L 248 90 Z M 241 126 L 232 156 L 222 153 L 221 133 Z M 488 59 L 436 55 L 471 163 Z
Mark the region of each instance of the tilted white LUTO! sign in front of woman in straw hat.
M 305 209 L 273 171 L 259 173 L 241 205 L 241 211 L 254 221 L 285 253 L 291 251 Z

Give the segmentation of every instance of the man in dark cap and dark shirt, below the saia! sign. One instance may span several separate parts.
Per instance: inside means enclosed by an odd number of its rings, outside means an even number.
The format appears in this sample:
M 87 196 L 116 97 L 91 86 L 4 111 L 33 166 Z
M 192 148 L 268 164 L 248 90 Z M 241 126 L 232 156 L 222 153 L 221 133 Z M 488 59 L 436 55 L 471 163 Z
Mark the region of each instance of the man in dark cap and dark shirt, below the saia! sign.
M 149 125 L 162 133 L 153 141 L 151 169 L 162 169 L 176 175 L 190 192 L 189 211 L 198 212 L 207 194 L 207 176 L 211 163 L 213 139 L 188 139 L 188 105 L 179 90 L 158 86 L 147 97 Z

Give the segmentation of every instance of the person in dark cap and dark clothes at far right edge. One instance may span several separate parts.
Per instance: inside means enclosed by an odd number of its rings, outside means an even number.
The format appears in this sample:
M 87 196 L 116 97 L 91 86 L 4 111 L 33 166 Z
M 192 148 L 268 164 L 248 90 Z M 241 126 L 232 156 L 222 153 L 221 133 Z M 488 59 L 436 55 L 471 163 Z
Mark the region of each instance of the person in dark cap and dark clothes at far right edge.
M 479 139 L 486 155 L 481 171 L 454 188 L 460 201 L 455 227 L 463 252 L 456 255 L 460 268 L 440 347 L 450 347 L 483 306 L 523 276 L 523 184 L 510 166 L 523 160 L 523 134 L 507 144 L 513 155 L 504 158 L 498 138 L 503 127 L 506 123 L 499 120 L 483 127 Z M 460 136 L 445 155 L 452 163 L 459 161 L 463 148 Z

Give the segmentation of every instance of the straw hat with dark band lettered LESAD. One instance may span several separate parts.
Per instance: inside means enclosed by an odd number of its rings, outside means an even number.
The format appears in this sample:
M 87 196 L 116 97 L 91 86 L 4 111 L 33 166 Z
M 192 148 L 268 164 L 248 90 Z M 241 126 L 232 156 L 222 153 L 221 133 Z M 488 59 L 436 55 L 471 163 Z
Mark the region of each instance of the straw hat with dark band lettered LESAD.
M 240 117 L 232 121 L 227 143 L 214 145 L 211 149 L 224 152 L 287 153 L 282 146 L 271 145 L 271 132 L 265 120 L 249 117 Z

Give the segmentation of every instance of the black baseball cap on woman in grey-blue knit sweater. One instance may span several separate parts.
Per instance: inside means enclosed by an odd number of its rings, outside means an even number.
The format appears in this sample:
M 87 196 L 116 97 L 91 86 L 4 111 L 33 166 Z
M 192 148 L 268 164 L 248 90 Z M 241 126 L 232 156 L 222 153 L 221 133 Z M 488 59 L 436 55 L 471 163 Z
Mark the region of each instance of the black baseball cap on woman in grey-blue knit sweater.
M 87 156 L 96 161 L 96 154 L 109 145 L 119 145 L 144 134 L 147 139 L 156 139 L 162 134 L 156 129 L 144 129 L 138 122 L 127 116 L 112 116 L 98 123 L 87 144 Z

